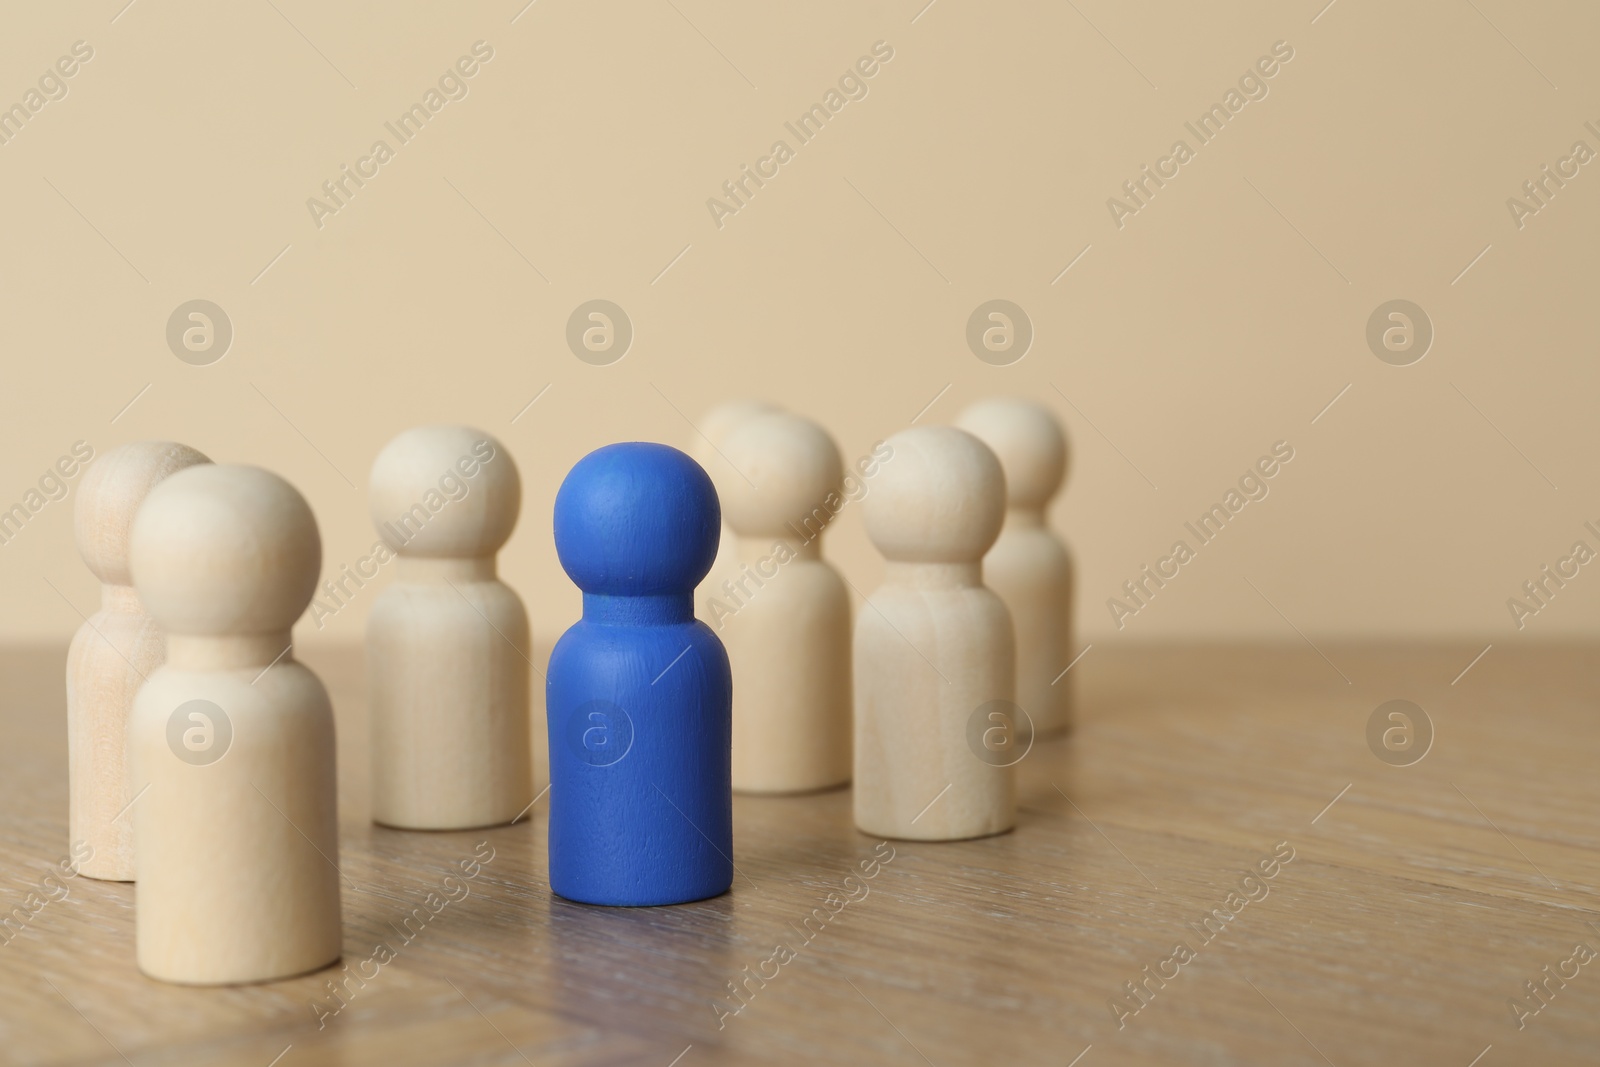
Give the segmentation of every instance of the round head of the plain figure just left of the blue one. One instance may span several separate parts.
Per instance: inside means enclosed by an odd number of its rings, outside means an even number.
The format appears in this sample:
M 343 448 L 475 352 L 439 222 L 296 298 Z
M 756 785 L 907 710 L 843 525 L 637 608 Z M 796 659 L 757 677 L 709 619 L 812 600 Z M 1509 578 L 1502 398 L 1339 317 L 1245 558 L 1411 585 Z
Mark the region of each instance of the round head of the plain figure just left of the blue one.
M 366 506 L 384 542 L 408 557 L 480 558 L 510 537 L 522 475 L 510 451 L 469 426 L 418 426 L 373 461 Z

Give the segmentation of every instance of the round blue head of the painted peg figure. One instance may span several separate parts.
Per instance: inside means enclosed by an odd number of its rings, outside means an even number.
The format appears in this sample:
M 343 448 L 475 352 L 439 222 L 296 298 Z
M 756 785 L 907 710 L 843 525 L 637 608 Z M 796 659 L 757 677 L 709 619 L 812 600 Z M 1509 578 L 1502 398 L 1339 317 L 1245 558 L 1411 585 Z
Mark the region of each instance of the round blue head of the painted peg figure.
M 555 494 L 555 553 L 586 593 L 693 592 L 717 558 L 720 534 L 710 477 L 667 445 L 597 448 Z

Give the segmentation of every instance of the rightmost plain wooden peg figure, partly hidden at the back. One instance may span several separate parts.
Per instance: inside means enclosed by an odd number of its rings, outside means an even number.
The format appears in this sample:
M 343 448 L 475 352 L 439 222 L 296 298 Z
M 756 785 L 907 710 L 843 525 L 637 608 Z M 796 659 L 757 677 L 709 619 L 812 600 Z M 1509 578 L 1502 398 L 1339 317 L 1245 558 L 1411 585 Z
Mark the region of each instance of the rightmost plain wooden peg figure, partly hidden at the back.
M 1016 625 L 1016 699 L 1037 736 L 1072 728 L 1072 557 L 1050 528 L 1050 501 L 1067 474 L 1067 437 L 1056 416 L 1027 400 L 995 398 L 966 408 L 955 426 L 1000 458 L 1006 515 L 984 557 L 984 584 L 1000 593 Z

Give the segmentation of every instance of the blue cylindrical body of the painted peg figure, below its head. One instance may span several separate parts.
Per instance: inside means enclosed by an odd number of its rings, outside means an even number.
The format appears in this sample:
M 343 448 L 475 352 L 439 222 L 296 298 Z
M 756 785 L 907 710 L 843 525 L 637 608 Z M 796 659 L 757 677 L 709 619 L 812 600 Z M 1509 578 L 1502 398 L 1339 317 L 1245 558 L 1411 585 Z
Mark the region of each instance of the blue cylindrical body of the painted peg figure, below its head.
M 731 696 L 728 656 L 686 595 L 584 597 L 546 688 L 550 889 L 616 905 L 728 889 Z

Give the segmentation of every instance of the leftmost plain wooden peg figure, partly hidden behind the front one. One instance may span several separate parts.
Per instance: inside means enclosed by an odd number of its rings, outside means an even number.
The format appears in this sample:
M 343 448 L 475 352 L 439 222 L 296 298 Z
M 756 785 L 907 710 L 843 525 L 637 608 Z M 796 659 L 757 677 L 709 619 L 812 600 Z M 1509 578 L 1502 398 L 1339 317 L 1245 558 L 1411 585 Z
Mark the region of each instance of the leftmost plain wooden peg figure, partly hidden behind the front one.
M 211 462 L 174 442 L 120 445 L 83 474 L 74 504 L 78 555 L 101 579 L 101 609 L 67 651 L 67 824 L 88 857 L 78 873 L 133 881 L 128 713 L 166 645 L 128 576 L 128 533 L 139 504 L 171 474 Z

